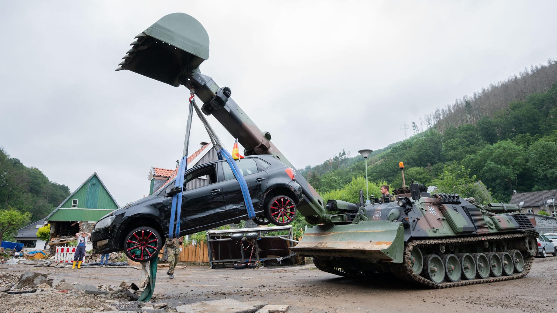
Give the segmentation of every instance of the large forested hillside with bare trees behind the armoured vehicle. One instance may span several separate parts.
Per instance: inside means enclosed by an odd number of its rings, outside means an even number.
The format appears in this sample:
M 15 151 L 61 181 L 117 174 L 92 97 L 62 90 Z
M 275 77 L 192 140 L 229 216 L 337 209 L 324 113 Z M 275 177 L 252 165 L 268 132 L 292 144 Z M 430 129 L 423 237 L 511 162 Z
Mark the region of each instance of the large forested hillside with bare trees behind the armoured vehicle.
M 398 162 L 404 162 L 407 184 L 414 179 L 486 202 L 492 199 L 481 195 L 478 180 L 499 201 L 508 201 L 513 190 L 557 188 L 555 61 L 465 96 L 424 119 L 426 130 L 419 131 L 423 119 L 418 118 L 411 138 L 370 156 L 371 182 L 400 187 Z M 364 175 L 363 158 L 343 158 L 341 153 L 302 173 L 321 194 L 354 189 L 346 184 Z

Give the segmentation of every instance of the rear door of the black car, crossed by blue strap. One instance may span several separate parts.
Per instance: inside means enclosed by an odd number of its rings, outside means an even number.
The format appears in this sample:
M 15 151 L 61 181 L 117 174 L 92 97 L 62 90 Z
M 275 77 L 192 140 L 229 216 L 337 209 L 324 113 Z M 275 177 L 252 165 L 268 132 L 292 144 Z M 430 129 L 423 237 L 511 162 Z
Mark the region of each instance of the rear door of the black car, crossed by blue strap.
M 251 202 L 255 211 L 263 209 L 263 193 L 267 188 L 268 175 L 265 170 L 258 167 L 255 158 L 245 158 L 236 160 L 236 164 L 246 180 L 248 190 L 250 190 Z M 228 218 L 238 219 L 247 215 L 246 204 L 243 200 L 240 183 L 234 177 L 232 169 L 227 162 L 221 162 L 223 171 L 223 194 Z

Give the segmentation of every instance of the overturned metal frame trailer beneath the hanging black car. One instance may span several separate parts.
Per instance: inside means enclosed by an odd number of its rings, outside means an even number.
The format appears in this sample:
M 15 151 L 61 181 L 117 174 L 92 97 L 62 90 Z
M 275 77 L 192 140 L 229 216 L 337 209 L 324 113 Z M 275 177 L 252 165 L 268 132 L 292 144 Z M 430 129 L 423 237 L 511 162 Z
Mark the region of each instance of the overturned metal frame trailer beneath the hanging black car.
M 280 235 L 266 235 L 272 232 L 281 232 L 287 231 L 288 237 L 280 236 Z M 252 260 L 257 261 L 274 261 L 281 263 L 283 260 L 292 260 L 296 257 L 296 253 L 292 253 L 290 251 L 290 247 L 286 245 L 286 248 L 279 248 L 279 249 L 272 249 L 272 251 L 280 251 L 280 250 L 287 250 L 286 256 L 282 257 L 261 257 L 260 252 L 265 251 L 260 249 L 260 239 L 267 239 L 267 238 L 280 238 L 286 242 L 294 242 L 298 243 L 298 241 L 294 240 L 294 233 L 292 232 L 292 225 L 288 226 L 270 226 L 270 227 L 253 227 L 253 228 L 232 228 L 232 229 L 214 229 L 211 231 L 207 231 L 207 250 L 209 254 L 209 266 L 211 268 L 222 268 L 222 267 L 231 267 L 234 263 L 244 263 L 249 260 L 250 253 L 245 253 L 243 246 L 239 245 L 238 249 L 240 250 L 241 258 L 222 258 L 221 259 L 221 244 L 218 244 L 217 255 L 213 255 L 213 246 L 215 243 L 226 242 L 226 241 L 235 241 L 231 239 L 231 234 L 233 233 L 249 233 L 249 232 L 259 232 L 260 236 L 256 239 L 253 239 L 253 244 L 255 245 L 255 250 L 253 251 Z M 230 249 L 232 245 L 228 245 Z M 228 251 L 228 255 L 230 255 L 231 251 Z M 283 253 L 284 254 L 284 253 Z M 214 258 L 214 260 L 213 260 Z

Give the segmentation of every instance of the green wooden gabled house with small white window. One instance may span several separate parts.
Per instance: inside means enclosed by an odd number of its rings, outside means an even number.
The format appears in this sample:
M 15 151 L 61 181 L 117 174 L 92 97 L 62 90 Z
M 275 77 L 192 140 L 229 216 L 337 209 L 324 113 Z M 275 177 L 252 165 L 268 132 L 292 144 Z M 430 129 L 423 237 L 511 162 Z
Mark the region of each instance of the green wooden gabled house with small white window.
M 101 217 L 117 208 L 118 203 L 99 175 L 93 173 L 45 218 L 50 223 L 50 238 L 90 233 Z

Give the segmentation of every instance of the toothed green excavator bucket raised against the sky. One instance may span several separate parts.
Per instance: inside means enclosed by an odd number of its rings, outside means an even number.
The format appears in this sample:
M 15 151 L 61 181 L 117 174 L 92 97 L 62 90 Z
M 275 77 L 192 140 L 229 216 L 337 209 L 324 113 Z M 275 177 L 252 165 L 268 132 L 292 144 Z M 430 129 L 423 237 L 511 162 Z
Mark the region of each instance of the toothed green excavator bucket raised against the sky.
M 180 71 L 193 71 L 209 58 L 209 35 L 185 13 L 165 15 L 135 36 L 116 71 L 130 70 L 178 87 Z

